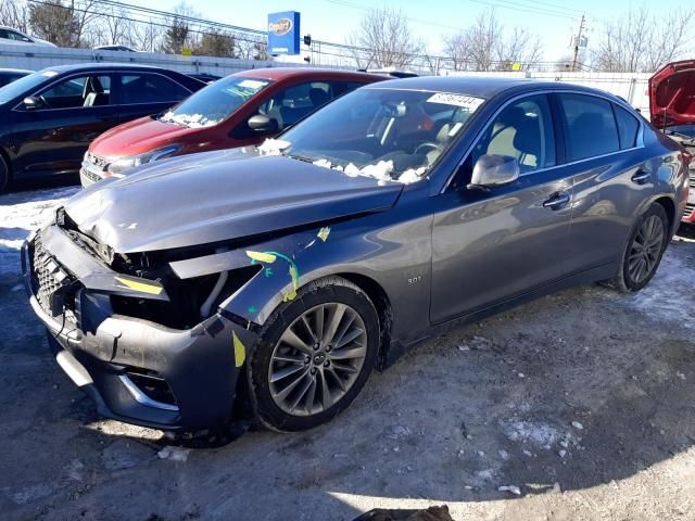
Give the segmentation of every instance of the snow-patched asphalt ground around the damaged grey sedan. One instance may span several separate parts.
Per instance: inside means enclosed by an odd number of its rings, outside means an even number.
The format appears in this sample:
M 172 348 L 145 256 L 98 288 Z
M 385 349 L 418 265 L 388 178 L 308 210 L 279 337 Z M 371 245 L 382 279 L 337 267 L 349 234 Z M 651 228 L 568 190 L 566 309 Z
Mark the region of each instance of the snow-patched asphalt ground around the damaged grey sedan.
M 96 416 L 18 281 L 23 238 L 74 190 L 0 196 L 3 519 L 695 519 L 692 230 L 643 292 L 581 287 L 437 338 L 330 424 L 162 452 L 161 432 Z

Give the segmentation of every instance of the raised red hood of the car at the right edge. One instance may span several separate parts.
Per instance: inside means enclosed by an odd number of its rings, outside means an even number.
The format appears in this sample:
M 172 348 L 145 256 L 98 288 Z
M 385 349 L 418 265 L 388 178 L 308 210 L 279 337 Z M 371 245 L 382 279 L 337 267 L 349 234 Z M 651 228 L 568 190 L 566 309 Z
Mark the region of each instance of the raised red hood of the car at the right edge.
M 649 78 L 649 113 L 657 128 L 695 124 L 695 60 L 669 63 Z

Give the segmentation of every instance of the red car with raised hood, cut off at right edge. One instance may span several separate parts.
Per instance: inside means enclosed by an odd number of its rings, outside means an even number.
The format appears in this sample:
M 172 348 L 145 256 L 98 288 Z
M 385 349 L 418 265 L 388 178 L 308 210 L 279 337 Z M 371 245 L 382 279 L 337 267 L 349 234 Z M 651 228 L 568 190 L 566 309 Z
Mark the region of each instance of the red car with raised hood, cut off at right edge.
M 695 60 L 669 63 L 649 78 L 652 124 L 681 143 L 690 163 L 690 194 L 683 221 L 695 224 Z

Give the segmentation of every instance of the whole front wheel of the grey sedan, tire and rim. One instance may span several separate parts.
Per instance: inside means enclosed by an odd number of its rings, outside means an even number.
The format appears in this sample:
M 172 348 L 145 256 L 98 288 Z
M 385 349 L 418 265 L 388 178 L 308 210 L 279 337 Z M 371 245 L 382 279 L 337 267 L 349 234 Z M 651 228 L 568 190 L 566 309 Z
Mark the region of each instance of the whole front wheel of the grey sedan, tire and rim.
M 251 355 L 256 417 L 282 431 L 329 421 L 364 386 L 379 339 L 377 312 L 358 287 L 338 277 L 312 282 L 270 317 Z

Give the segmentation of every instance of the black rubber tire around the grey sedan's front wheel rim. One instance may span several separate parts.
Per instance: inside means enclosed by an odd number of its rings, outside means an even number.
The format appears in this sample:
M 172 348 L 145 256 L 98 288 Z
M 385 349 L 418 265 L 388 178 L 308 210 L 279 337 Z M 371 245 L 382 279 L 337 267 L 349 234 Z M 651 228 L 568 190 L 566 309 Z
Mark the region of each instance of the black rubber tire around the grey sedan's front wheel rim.
M 345 394 L 334 402 L 330 407 L 317 412 L 304 412 L 304 416 L 295 416 L 282 410 L 273 397 L 270 383 L 271 364 L 276 345 L 280 345 L 280 338 L 291 325 L 296 323 L 305 314 L 321 305 L 345 305 L 351 312 L 356 312 L 362 319 L 366 333 L 366 354 L 362 359 L 356 378 Z M 365 385 L 369 373 L 377 363 L 380 343 L 379 318 L 377 310 L 369 297 L 352 282 L 340 277 L 327 277 L 311 282 L 302 288 L 296 297 L 289 301 L 274 312 L 263 327 L 261 341 L 251 354 L 248 364 L 249 391 L 254 414 L 260 423 L 266 429 L 277 431 L 302 431 L 312 429 L 334 418 L 342 410 L 348 408 L 355 399 L 362 387 Z M 336 348 L 336 353 L 339 348 Z M 300 363 L 295 363 L 300 364 Z M 305 361 L 304 364 L 308 364 Z M 311 361 L 312 368 L 314 360 Z M 315 369 L 314 369 L 315 370 Z M 309 377 L 304 372 L 304 377 Z M 312 373 L 314 374 L 314 373 Z M 323 376 L 323 370 L 320 371 Z M 299 389 L 299 386 L 298 386 Z M 330 394 L 330 393 L 329 393 Z M 312 402 L 313 403 L 313 402 Z

